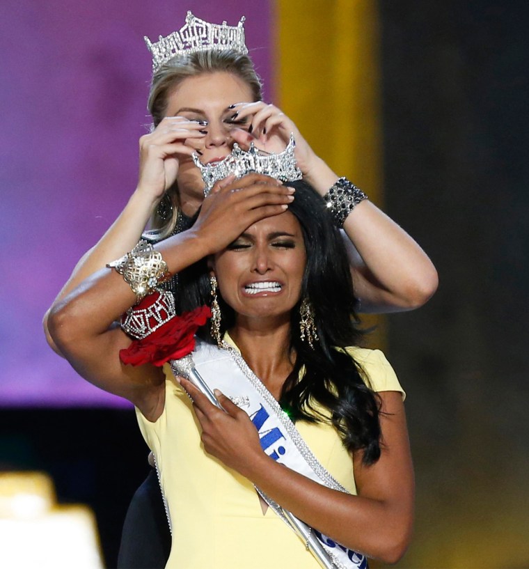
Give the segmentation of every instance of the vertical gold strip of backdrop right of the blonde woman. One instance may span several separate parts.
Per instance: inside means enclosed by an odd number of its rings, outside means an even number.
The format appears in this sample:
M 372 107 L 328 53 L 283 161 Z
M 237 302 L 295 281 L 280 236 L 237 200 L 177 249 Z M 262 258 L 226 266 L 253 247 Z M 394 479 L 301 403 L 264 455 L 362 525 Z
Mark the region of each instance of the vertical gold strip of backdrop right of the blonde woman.
M 276 0 L 274 10 L 274 102 L 338 176 L 381 207 L 377 1 Z M 384 320 L 363 320 L 383 344 Z

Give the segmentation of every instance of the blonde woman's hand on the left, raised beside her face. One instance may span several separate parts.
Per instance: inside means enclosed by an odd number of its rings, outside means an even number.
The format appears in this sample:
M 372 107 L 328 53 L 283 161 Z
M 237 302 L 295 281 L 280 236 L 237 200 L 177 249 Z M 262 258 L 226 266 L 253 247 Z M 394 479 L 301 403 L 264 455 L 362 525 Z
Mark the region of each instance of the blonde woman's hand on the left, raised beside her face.
M 204 123 L 183 116 L 166 116 L 140 138 L 138 189 L 159 201 L 178 173 L 179 155 L 191 156 L 205 137 Z

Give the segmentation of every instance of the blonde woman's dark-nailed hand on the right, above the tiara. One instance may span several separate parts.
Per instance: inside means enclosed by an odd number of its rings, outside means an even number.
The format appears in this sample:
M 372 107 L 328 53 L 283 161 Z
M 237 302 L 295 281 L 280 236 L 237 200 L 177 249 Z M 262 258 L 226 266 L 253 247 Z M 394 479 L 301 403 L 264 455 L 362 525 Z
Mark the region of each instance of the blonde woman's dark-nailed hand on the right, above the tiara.
M 236 103 L 233 105 L 233 110 L 237 113 L 237 122 L 245 119 L 248 121 L 244 130 L 234 129 L 231 132 L 233 139 L 239 145 L 246 148 L 250 142 L 253 142 L 264 152 L 278 154 L 285 150 L 292 133 L 296 141 L 297 165 L 303 176 L 310 175 L 317 161 L 317 155 L 301 136 L 298 127 L 281 109 L 273 104 L 257 101 Z

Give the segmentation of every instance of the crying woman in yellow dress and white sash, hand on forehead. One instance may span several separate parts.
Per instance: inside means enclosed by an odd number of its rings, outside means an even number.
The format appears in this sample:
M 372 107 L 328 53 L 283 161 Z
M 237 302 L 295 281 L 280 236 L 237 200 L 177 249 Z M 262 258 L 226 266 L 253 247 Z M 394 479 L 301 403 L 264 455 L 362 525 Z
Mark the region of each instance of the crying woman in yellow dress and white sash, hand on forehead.
M 358 346 L 347 254 L 325 204 L 289 185 L 296 197 L 276 215 L 253 207 L 254 186 L 211 194 L 191 229 L 111 263 L 49 317 L 72 366 L 136 406 L 175 513 L 169 568 L 365 567 L 364 556 L 394 562 L 409 543 L 402 388 L 381 352 Z M 211 217 L 226 200 L 243 231 Z M 182 308 L 211 305 L 212 334 L 201 331 L 192 355 L 216 399 L 175 377 L 177 346 L 159 359 L 167 334 L 151 334 L 145 359 L 145 343 L 113 325 L 138 300 L 138 266 L 152 279 L 179 272 Z M 174 332 L 175 319 L 164 326 Z M 121 350 L 139 365 L 123 365 Z

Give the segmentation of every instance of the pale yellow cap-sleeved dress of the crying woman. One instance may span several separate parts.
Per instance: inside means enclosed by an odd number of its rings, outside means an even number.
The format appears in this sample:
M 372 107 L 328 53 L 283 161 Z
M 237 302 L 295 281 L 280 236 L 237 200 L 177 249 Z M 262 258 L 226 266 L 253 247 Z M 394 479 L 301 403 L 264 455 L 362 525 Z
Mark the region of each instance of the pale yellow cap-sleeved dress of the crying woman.
M 230 338 L 226 338 L 230 341 Z M 374 391 L 402 391 L 379 350 L 347 348 Z M 319 569 L 296 534 L 268 508 L 263 515 L 251 482 L 207 455 L 191 401 L 165 366 L 166 403 L 154 423 L 136 409 L 155 453 L 171 513 L 171 569 Z M 356 494 L 352 460 L 336 430 L 298 421 L 296 427 L 322 465 Z

